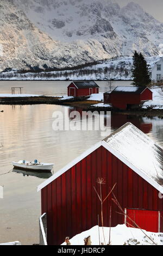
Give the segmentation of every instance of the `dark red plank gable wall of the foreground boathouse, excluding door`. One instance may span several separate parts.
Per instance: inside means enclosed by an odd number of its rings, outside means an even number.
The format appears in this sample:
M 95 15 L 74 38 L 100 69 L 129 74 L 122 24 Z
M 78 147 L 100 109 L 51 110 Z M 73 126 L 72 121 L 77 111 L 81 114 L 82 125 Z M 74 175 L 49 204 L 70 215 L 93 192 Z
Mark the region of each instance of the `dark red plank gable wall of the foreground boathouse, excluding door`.
M 98 177 L 106 181 L 102 185 L 103 197 L 117 183 L 114 194 L 123 209 L 163 211 L 158 191 L 101 147 L 42 189 L 42 214 L 47 212 L 48 218 L 48 245 L 59 245 L 66 236 L 72 237 L 97 225 L 101 207 L 93 186 L 99 192 Z M 110 204 L 112 227 L 124 223 L 124 216 L 116 213 L 120 210 L 111 198 L 112 196 L 103 205 L 104 225 L 108 227 Z M 162 225 L 163 223 L 161 231 Z

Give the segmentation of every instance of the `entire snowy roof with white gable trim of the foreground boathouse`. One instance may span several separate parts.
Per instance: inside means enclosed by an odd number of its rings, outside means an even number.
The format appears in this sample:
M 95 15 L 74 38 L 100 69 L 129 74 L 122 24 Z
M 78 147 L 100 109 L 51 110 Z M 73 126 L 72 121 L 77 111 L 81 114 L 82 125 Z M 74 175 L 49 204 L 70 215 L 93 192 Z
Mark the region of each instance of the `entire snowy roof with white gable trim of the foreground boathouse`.
M 37 191 L 40 191 L 101 146 L 163 193 L 163 149 L 131 123 L 126 123 L 103 141 L 95 144 L 68 163 L 67 166 L 40 184 Z

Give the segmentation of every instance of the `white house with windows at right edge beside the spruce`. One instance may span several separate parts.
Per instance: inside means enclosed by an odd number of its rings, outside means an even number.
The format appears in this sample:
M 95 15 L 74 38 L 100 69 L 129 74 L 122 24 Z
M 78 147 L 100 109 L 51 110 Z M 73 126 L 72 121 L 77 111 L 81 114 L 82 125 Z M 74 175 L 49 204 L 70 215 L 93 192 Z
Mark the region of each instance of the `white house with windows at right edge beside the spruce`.
M 160 82 L 163 81 L 163 58 L 153 66 L 152 68 L 152 81 Z

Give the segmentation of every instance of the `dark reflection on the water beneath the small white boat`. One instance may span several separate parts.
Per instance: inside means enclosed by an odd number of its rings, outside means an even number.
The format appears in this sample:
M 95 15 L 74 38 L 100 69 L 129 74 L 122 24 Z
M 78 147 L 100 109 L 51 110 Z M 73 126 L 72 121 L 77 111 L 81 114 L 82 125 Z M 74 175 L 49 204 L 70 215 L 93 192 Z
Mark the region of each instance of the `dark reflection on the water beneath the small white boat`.
M 32 172 L 32 170 L 22 170 L 22 169 L 16 169 L 16 168 L 14 168 L 12 172 L 21 173 L 23 174 L 23 176 L 35 176 L 40 179 L 48 179 L 53 175 L 51 172 L 37 172 L 37 171 Z

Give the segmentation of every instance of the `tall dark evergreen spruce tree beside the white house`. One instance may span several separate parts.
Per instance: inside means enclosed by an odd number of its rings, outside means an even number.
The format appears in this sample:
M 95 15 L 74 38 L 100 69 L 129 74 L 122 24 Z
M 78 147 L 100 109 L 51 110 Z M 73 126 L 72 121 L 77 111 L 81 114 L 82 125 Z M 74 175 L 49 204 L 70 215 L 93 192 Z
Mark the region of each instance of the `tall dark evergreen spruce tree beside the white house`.
M 148 65 L 143 57 L 142 53 L 137 53 L 135 51 L 133 56 L 133 85 L 134 86 L 147 86 L 151 82 L 150 73 L 148 70 Z

